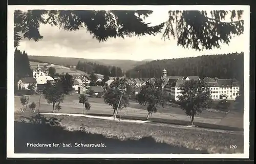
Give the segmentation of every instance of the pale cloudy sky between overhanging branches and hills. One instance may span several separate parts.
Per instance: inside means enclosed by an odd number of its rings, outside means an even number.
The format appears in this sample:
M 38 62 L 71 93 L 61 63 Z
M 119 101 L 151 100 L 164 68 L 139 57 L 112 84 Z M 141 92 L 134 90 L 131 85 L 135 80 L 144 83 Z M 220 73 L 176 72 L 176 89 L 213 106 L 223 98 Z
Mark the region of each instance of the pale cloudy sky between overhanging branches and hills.
M 168 11 L 158 10 L 154 11 L 145 22 L 152 22 L 152 26 L 154 26 L 167 19 Z M 23 39 L 18 49 L 33 56 L 157 60 L 242 52 L 244 47 L 241 46 L 241 42 L 245 40 L 243 34 L 231 39 L 229 45 L 221 44 L 221 49 L 199 52 L 178 46 L 176 39 L 162 39 L 163 32 L 156 36 L 113 38 L 106 42 L 99 42 L 97 39 L 93 39 L 86 29 L 70 32 L 50 25 L 40 25 L 39 31 L 44 36 L 43 39 L 38 42 Z

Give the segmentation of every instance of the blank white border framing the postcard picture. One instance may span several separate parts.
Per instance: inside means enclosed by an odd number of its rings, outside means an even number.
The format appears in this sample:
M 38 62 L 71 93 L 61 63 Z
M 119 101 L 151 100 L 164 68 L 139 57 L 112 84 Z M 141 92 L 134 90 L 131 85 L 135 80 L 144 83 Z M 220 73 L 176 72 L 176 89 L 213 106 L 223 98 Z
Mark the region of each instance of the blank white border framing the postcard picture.
M 244 154 L 17 154 L 14 153 L 14 10 L 244 10 Z M 8 6 L 7 158 L 249 158 L 250 6 Z M 236 145 L 236 143 L 234 143 Z

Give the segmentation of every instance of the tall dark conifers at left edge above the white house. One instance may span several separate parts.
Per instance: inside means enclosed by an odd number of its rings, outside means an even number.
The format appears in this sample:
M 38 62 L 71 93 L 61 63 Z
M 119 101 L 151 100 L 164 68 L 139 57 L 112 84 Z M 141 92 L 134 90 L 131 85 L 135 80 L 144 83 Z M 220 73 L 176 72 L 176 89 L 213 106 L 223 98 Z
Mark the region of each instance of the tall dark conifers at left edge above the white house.
M 14 87 L 17 89 L 17 82 L 20 78 L 32 77 L 32 70 L 30 69 L 30 63 L 28 54 L 18 49 L 14 51 Z M 15 90 L 14 89 L 14 90 Z

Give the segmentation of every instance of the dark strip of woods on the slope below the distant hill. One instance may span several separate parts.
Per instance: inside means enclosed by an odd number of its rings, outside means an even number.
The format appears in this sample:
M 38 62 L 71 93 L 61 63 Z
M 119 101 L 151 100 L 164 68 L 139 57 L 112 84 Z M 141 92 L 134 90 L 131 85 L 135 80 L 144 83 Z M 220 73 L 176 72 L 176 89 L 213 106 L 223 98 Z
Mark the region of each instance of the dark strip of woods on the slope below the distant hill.
M 81 62 L 78 61 L 76 69 L 87 72 L 89 74 L 101 74 L 110 77 L 122 77 L 123 72 L 120 67 L 100 65 L 93 62 Z

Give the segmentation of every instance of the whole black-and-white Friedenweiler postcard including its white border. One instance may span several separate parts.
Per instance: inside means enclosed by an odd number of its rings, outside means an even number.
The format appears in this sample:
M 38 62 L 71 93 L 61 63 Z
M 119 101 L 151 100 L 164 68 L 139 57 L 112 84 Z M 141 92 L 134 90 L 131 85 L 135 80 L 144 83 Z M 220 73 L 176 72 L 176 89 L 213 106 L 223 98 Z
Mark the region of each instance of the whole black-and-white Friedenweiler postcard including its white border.
M 249 6 L 8 6 L 8 158 L 249 158 Z

